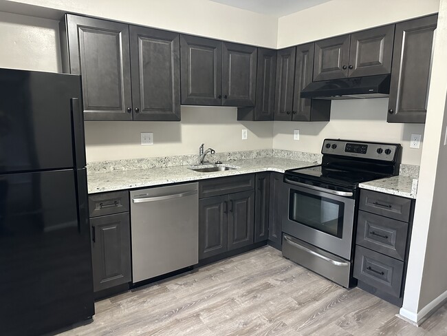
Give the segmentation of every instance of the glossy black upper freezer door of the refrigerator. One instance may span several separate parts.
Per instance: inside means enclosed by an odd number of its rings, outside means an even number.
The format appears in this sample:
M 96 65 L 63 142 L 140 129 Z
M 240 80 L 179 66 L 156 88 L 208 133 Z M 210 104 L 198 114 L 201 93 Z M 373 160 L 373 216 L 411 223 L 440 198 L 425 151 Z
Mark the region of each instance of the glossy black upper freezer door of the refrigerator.
M 84 167 L 80 98 L 79 76 L 0 69 L 0 174 Z

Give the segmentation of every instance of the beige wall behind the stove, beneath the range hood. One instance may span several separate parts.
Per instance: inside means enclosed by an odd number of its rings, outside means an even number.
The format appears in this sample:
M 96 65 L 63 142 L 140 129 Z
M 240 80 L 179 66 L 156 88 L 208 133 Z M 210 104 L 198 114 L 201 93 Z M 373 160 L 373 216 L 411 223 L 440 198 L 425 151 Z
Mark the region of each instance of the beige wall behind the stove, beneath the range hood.
M 402 162 L 419 165 L 420 149 L 409 148 L 411 134 L 424 134 L 423 124 L 386 123 L 388 98 L 332 101 L 329 123 L 275 121 L 273 147 L 320 153 L 323 139 L 345 138 L 402 144 Z M 293 130 L 300 130 L 300 140 L 293 140 Z M 424 140 L 424 137 L 422 137 Z

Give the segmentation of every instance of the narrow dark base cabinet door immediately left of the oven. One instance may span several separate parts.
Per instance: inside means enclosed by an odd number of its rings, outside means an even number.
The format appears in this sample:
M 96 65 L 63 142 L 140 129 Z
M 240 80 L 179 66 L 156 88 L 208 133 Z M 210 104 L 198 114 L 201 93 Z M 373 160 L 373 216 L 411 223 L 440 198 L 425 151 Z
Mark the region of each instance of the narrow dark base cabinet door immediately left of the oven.
M 281 246 L 283 214 L 288 211 L 288 194 L 283 182 L 283 174 L 272 173 L 270 175 L 270 211 L 268 220 L 268 240 L 274 246 Z

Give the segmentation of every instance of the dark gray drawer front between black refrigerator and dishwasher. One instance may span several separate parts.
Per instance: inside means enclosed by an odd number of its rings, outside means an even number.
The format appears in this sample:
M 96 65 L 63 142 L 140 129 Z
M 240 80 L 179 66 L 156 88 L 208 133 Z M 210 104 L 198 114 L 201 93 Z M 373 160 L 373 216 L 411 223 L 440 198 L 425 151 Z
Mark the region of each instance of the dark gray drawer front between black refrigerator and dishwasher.
M 129 211 L 129 191 L 127 190 L 89 195 L 90 218 L 126 211 Z

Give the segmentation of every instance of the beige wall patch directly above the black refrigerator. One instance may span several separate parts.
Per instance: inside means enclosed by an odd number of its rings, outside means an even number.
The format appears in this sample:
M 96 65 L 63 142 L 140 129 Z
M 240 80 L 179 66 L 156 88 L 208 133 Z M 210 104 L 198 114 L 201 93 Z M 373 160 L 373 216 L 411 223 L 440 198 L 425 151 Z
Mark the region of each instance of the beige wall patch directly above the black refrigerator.
M 0 67 L 61 72 L 58 21 L 0 12 Z

